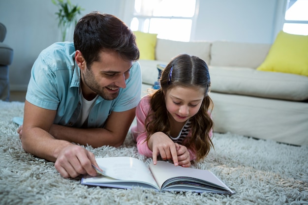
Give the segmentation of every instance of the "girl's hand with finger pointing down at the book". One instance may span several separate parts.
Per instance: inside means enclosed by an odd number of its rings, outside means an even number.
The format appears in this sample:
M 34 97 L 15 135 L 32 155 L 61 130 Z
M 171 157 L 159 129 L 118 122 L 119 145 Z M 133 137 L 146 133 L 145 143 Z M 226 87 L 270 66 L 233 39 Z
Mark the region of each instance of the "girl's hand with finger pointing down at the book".
M 163 160 L 172 159 L 175 166 L 179 165 L 178 154 L 174 142 L 163 132 L 155 132 L 148 141 L 153 152 L 153 164 L 157 163 L 157 155 Z

